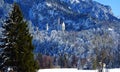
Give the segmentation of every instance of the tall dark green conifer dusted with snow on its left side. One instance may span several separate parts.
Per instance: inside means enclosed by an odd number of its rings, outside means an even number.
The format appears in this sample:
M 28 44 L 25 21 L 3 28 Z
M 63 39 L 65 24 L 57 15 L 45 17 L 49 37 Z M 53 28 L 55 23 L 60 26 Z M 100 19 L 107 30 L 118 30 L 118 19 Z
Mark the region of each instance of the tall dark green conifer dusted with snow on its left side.
M 33 55 L 32 37 L 23 19 L 20 7 L 15 3 L 9 17 L 3 24 L 3 35 L 0 48 L 2 68 L 12 67 L 17 72 L 35 72 L 36 64 Z

